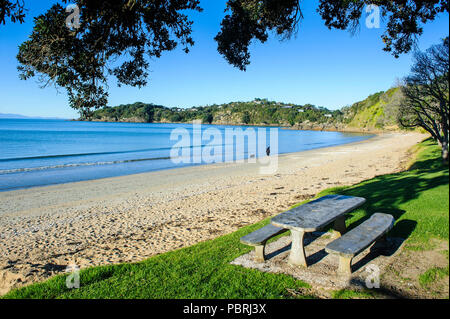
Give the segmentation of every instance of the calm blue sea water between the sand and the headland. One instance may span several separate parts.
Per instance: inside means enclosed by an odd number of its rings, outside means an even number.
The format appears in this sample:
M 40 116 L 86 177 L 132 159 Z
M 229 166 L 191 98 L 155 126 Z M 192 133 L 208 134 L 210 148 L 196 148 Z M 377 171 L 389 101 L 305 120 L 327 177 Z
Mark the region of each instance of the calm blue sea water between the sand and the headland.
M 177 143 L 170 135 L 177 128 L 193 130 L 191 124 L 0 119 L 0 191 L 199 165 L 176 164 L 170 159 L 170 150 Z M 238 127 L 202 125 L 202 131 L 210 128 L 225 136 L 227 128 Z M 278 137 L 278 153 L 283 154 L 361 141 L 372 135 L 280 129 Z

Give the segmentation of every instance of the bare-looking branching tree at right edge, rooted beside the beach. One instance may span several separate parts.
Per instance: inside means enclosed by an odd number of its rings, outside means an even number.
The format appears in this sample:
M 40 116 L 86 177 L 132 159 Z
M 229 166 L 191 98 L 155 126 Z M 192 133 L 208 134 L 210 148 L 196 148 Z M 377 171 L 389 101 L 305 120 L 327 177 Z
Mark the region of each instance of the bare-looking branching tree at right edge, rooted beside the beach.
M 400 108 L 400 123 L 422 127 L 442 146 L 448 161 L 449 138 L 449 39 L 426 52 L 416 52 L 411 74 L 405 79 L 405 100 Z

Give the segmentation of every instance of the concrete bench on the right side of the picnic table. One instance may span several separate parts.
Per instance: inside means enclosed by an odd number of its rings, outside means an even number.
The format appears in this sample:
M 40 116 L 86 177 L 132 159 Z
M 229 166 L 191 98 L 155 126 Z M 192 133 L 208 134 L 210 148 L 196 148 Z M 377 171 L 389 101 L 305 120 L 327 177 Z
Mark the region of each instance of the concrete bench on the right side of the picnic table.
M 340 274 L 350 275 L 353 257 L 378 239 L 384 238 L 393 226 L 394 217 L 388 214 L 375 213 L 361 225 L 329 243 L 325 247 L 325 251 L 339 256 L 338 272 Z

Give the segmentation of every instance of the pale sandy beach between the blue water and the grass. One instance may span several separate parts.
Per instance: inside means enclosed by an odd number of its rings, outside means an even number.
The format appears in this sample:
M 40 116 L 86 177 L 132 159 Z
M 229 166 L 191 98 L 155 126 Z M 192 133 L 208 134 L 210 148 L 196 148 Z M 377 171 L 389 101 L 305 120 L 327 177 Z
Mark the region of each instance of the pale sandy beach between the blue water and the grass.
M 402 170 L 417 133 L 279 157 L 0 193 L 0 294 L 65 271 L 137 262 L 231 233 L 323 189 Z

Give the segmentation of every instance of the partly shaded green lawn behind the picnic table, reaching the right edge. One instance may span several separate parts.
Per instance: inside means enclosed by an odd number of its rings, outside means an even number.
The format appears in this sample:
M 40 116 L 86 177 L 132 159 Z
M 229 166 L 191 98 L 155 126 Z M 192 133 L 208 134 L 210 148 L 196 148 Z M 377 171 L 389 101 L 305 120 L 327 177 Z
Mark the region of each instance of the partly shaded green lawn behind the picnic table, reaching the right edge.
M 337 187 L 319 194 L 361 196 L 367 202 L 347 219 L 354 228 L 373 213 L 391 214 L 395 226 L 390 236 L 407 238 L 410 249 L 432 248 L 432 238 L 449 237 L 448 166 L 440 160 L 440 149 L 431 140 L 420 144 L 409 170 L 375 177 L 350 187 Z

